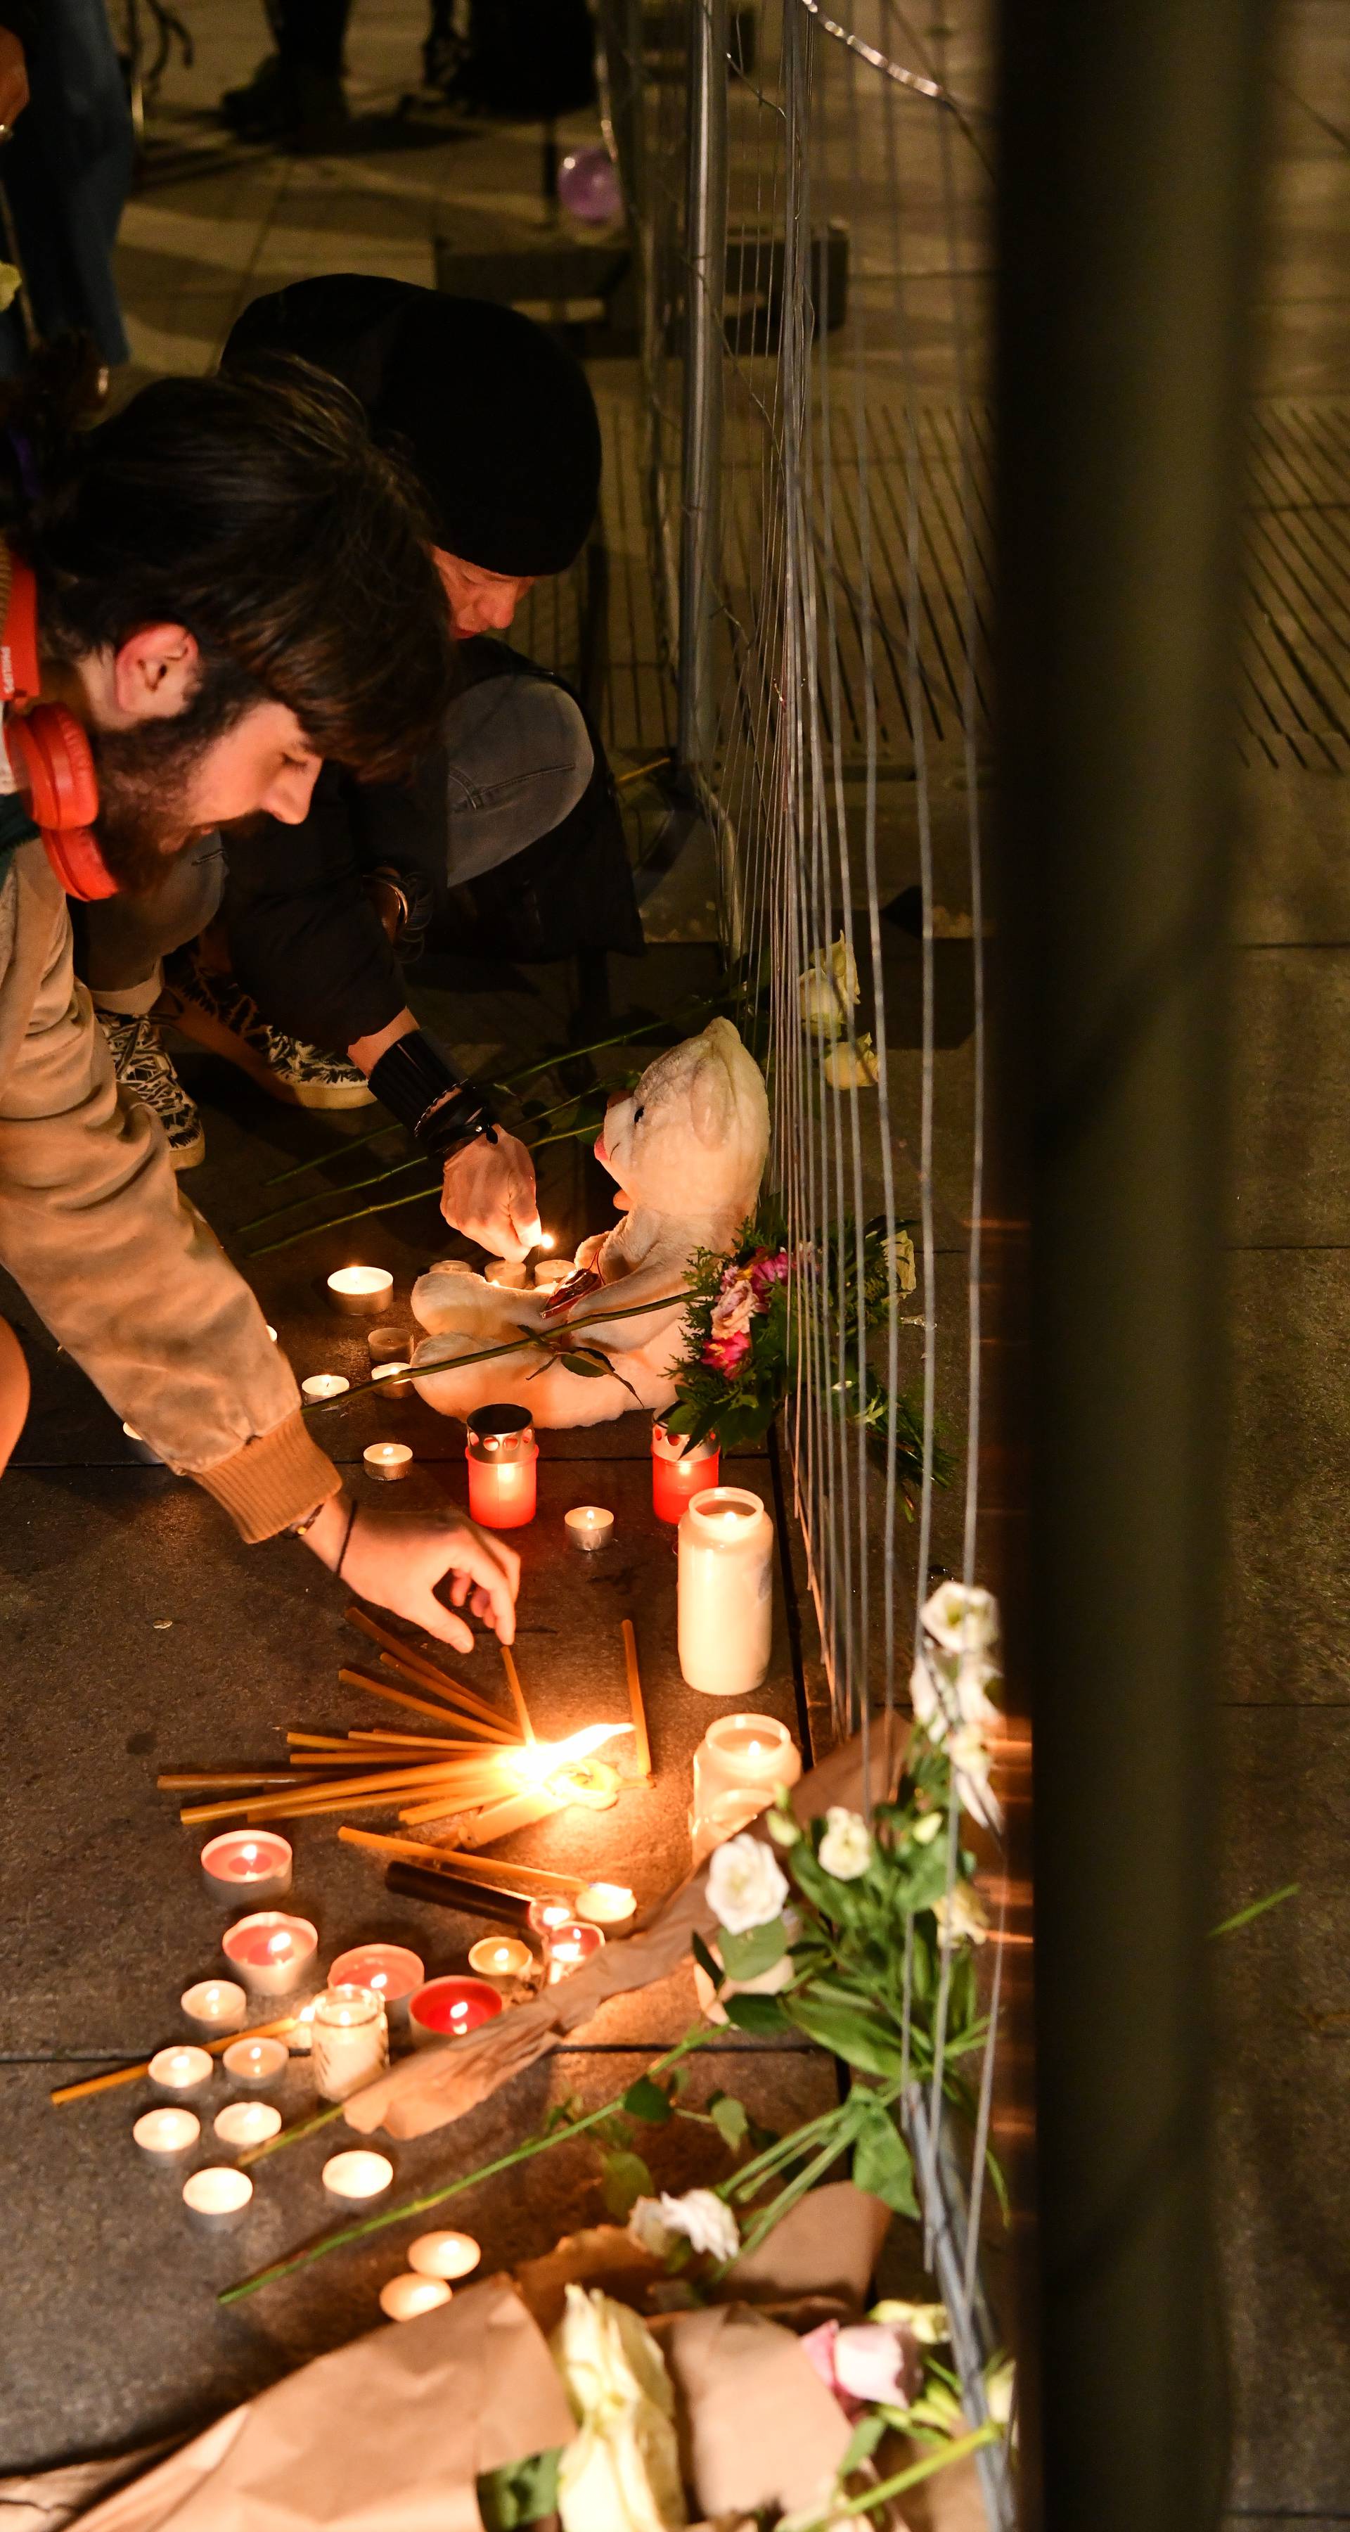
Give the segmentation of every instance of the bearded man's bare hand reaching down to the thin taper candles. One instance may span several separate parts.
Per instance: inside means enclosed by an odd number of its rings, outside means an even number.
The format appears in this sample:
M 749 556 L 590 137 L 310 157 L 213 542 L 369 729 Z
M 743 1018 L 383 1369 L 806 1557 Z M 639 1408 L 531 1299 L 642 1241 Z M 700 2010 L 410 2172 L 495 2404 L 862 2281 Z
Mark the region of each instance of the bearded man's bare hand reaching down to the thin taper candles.
M 464 1618 L 451 1615 L 436 1598 L 436 1585 L 453 1575 L 451 1600 L 474 1610 L 481 1626 L 491 1626 L 502 1643 L 517 1633 L 519 1557 L 514 1547 L 479 1529 L 464 1512 L 365 1512 L 360 1509 L 347 1537 L 350 1504 L 334 1494 L 322 1514 L 304 1532 L 304 1545 L 337 1570 L 360 1600 L 377 1600 L 400 1618 L 451 1643 L 456 1653 L 474 1651 L 474 1633 Z M 342 1555 L 342 1539 L 347 1552 Z

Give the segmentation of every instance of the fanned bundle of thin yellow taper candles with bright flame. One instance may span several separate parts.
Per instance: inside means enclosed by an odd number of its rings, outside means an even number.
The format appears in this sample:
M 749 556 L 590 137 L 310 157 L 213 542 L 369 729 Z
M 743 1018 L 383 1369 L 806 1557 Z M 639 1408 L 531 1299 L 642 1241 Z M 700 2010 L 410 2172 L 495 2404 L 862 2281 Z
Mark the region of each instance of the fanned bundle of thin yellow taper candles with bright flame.
M 615 1767 L 595 1757 L 595 1750 L 623 1732 L 636 1734 L 638 1780 L 651 1775 L 636 1638 L 628 1618 L 623 1620 L 623 1656 L 631 1719 L 590 1724 L 562 1742 L 539 1742 L 507 1646 L 502 1646 L 502 1666 L 512 1699 L 512 1724 L 474 1689 L 461 1686 L 458 1679 L 367 1618 L 365 1610 L 350 1608 L 347 1618 L 380 1646 L 380 1666 L 403 1679 L 405 1686 L 355 1669 L 337 1674 L 342 1686 L 362 1689 L 390 1707 L 436 1722 L 441 1729 L 410 1732 L 382 1724 L 344 1734 L 286 1732 L 286 1767 L 198 1767 L 160 1775 L 157 1783 L 165 1793 L 208 1795 L 208 1800 L 187 1803 L 180 1810 L 185 1826 L 230 1818 L 261 1826 L 347 1810 L 398 1810 L 405 1828 L 456 1818 L 461 1823 L 458 1848 L 479 1848 L 517 1828 L 529 1828 L 567 1803 L 593 1810 L 608 1808 L 618 1798 L 621 1777 Z M 448 1734 L 446 1727 L 453 1732 Z

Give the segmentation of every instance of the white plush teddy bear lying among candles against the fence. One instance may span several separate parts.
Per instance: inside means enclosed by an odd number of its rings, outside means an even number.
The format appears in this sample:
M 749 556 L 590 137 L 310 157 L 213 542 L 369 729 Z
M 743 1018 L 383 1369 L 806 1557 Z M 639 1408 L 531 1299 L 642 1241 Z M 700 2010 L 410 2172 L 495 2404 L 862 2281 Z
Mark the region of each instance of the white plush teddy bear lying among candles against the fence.
M 755 1210 L 770 1139 L 760 1066 L 729 1020 L 709 1020 L 699 1038 L 671 1046 L 648 1063 L 636 1091 L 610 1099 L 595 1157 L 628 1195 L 615 1231 L 583 1241 L 577 1266 L 593 1266 L 608 1291 L 572 1304 L 562 1324 L 595 1322 L 595 1342 L 618 1357 L 628 1388 L 613 1377 L 577 1380 L 539 1355 L 507 1355 L 469 1370 L 431 1370 L 446 1357 L 507 1342 L 545 1319 L 547 1291 L 507 1291 L 481 1276 L 433 1266 L 413 1284 L 413 1314 L 428 1344 L 413 1357 L 418 1395 L 441 1415 L 484 1405 L 524 1405 L 537 1426 L 608 1423 L 636 1403 L 664 1413 L 674 1403 L 671 1365 L 684 1352 L 684 1271 L 697 1248 L 729 1248 Z M 605 1301 L 653 1301 L 669 1312 L 605 1319 Z M 534 1375 L 534 1377 L 532 1377 Z

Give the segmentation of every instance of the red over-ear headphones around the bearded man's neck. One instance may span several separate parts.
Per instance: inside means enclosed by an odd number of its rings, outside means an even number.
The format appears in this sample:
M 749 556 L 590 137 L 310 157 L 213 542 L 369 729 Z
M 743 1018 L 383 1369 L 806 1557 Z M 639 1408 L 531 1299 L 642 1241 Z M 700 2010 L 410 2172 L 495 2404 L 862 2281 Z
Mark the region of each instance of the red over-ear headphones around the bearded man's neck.
M 28 562 L 13 555 L 10 603 L 0 625 L 0 701 L 30 709 L 5 711 L 10 770 L 66 896 L 117 896 L 117 879 L 91 833 L 99 782 L 89 739 L 63 704 L 38 704 L 38 582 Z

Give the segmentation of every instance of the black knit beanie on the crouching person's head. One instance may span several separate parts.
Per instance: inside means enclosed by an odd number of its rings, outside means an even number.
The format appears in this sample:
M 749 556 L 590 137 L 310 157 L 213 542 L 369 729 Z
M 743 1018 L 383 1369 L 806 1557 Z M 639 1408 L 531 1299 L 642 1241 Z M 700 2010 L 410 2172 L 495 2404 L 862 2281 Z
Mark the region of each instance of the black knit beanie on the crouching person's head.
M 600 423 L 570 352 L 489 299 L 324 273 L 253 299 L 223 360 L 296 352 L 400 443 L 436 544 L 486 572 L 539 577 L 580 555 L 600 496 Z

